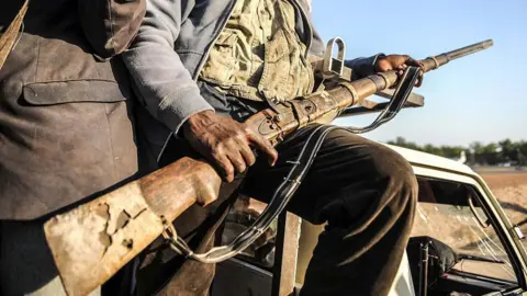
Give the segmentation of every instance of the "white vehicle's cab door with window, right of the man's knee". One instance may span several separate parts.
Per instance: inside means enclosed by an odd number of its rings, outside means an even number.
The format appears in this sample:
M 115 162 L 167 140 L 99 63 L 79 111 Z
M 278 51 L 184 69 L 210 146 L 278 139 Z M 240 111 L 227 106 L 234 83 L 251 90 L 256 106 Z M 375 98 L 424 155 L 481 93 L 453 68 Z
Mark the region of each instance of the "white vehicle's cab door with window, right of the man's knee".
M 475 173 L 419 166 L 414 171 L 419 200 L 411 244 L 408 244 L 407 253 L 417 295 L 419 284 L 431 296 L 523 295 L 525 250 L 483 180 Z M 447 246 L 457 259 L 448 262 L 427 240 Z M 424 244 L 429 247 L 427 276 L 421 269 Z

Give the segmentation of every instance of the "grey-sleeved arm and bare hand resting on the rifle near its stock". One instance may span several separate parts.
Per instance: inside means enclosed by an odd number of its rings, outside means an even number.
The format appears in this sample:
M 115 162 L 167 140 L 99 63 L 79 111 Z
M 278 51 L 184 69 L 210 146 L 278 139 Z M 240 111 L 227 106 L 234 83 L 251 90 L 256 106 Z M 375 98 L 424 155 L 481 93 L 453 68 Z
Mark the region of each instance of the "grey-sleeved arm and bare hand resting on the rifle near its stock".
M 192 4 L 191 4 L 192 3 Z M 222 117 L 201 96 L 173 43 L 193 1 L 149 0 L 136 41 L 124 53 L 125 64 L 146 109 L 170 130 L 182 134 L 228 182 L 255 163 L 251 148 L 277 161 L 272 145 L 249 126 Z M 199 37 L 199 36 L 197 36 Z

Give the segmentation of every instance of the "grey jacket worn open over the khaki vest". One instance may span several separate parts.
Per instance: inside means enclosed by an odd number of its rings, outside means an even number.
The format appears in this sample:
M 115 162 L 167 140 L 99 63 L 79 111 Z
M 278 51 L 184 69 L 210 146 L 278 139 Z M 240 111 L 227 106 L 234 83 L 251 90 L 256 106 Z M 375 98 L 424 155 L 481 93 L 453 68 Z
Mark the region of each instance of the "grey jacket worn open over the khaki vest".
M 293 3 L 309 11 L 305 0 Z M 177 133 L 195 113 L 214 110 L 200 94 L 197 78 L 208 52 L 233 10 L 235 0 L 149 0 L 135 42 L 124 53 L 135 89 L 148 112 Z M 309 13 L 305 13 L 309 18 Z M 322 56 L 324 45 L 311 26 L 301 20 L 299 36 L 311 44 L 310 53 Z M 374 57 L 348 61 L 367 72 Z

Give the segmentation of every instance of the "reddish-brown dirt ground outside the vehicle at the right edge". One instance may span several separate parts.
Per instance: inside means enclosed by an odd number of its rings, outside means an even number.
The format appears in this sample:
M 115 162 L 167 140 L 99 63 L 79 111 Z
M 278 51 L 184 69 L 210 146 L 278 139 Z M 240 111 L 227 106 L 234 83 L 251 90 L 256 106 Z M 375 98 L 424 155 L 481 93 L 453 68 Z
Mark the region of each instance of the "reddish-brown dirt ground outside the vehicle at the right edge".
M 527 171 L 479 172 L 502 204 L 513 224 L 527 235 Z M 527 240 L 524 241 L 527 248 Z

